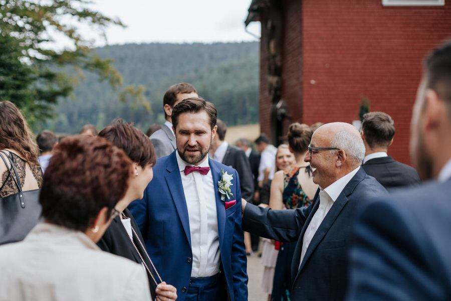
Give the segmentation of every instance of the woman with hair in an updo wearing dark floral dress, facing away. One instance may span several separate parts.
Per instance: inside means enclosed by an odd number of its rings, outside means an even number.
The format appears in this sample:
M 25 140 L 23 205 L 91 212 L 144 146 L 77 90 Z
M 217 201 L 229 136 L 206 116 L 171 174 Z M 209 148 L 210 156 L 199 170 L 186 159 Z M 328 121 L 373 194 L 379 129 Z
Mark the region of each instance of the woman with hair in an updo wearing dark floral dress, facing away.
M 298 122 L 288 129 L 288 144 L 296 163 L 274 174 L 271 183 L 270 207 L 272 209 L 296 209 L 310 205 L 318 185 L 313 183 L 308 163 L 304 162 L 313 131 L 307 124 Z M 273 282 L 273 300 L 290 300 L 291 263 L 296 242 L 284 242 L 279 250 Z

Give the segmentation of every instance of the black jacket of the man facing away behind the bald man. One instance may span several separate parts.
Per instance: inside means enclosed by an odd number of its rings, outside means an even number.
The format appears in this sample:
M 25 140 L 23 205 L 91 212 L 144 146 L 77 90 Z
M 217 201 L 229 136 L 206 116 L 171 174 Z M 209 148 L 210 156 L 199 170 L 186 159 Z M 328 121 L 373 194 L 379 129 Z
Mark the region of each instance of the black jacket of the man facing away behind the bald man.
M 388 191 L 421 184 L 420 177 L 413 167 L 397 162 L 390 156 L 368 160 L 362 167 L 368 176 L 376 178 Z

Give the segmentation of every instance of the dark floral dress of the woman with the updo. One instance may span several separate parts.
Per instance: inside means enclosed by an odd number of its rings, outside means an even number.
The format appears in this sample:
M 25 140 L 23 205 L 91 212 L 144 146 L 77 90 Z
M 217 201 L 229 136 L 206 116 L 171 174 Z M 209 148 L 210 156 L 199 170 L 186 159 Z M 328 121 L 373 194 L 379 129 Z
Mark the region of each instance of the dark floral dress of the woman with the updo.
M 301 184 L 298 181 L 300 172 L 310 174 L 310 166 L 292 167 L 284 171 L 284 192 L 282 200 L 287 209 L 297 209 L 309 206 L 312 202 L 302 190 Z M 284 242 L 281 244 L 274 273 L 273 300 L 291 300 L 291 263 L 293 261 L 296 243 L 297 242 Z

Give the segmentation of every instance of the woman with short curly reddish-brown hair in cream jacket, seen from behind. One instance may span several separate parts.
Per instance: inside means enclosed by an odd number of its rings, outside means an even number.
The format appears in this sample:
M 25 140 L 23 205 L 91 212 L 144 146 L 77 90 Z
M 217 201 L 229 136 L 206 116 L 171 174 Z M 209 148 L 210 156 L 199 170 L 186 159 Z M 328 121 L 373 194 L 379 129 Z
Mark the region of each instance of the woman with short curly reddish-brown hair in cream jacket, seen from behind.
M 119 214 L 132 162 L 101 137 L 67 137 L 54 150 L 40 203 L 45 222 L 0 246 L 5 300 L 149 300 L 140 264 L 95 244 Z

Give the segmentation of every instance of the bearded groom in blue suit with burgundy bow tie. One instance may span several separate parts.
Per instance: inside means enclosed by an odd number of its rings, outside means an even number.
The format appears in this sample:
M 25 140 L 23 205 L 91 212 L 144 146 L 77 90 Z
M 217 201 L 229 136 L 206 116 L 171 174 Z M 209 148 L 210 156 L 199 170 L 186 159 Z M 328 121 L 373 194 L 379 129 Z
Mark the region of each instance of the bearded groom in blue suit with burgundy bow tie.
M 143 199 L 129 206 L 156 270 L 181 301 L 248 299 L 238 173 L 207 156 L 216 118 L 202 98 L 174 106 L 177 149 L 157 160 Z

